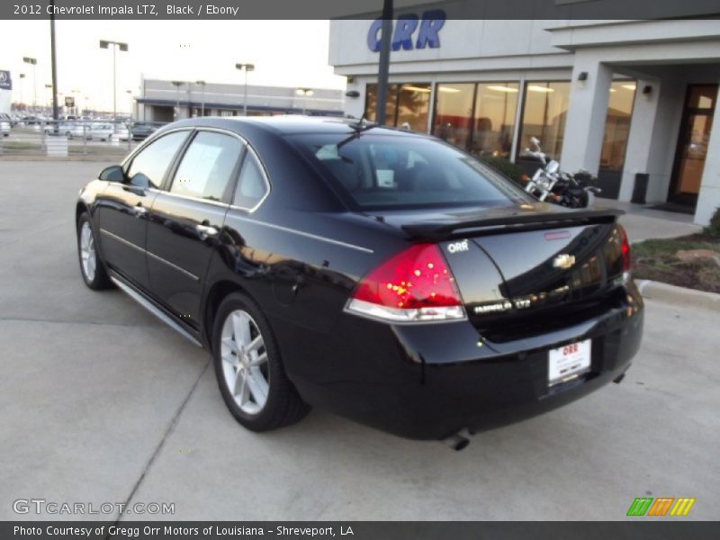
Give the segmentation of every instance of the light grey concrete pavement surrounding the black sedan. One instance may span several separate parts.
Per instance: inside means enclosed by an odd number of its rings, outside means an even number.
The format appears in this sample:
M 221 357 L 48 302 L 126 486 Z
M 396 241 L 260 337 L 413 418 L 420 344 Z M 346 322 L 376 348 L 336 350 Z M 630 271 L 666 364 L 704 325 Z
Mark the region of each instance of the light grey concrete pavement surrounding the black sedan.
M 181 519 L 618 520 L 645 496 L 720 518 L 716 311 L 648 301 L 623 383 L 463 452 L 321 410 L 258 435 L 208 355 L 85 288 L 74 204 L 103 166 L 0 162 L 0 519 L 69 518 L 14 513 L 34 498 L 168 502 Z

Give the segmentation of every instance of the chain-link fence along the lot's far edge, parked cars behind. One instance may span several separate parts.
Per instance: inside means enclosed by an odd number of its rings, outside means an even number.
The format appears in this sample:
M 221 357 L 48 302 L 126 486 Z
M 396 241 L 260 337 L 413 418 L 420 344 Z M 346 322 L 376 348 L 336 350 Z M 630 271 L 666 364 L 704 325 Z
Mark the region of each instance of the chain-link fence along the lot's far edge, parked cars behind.
M 120 160 L 147 135 L 124 121 L 0 121 L 0 157 Z

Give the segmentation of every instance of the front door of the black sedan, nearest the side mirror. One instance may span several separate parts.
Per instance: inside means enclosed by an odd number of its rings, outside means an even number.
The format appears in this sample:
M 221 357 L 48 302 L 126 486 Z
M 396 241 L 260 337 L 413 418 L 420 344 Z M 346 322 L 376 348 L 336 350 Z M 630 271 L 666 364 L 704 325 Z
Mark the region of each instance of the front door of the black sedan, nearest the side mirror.
M 141 288 L 147 289 L 149 284 L 145 260 L 147 213 L 189 133 L 168 133 L 141 149 L 125 168 L 126 181 L 108 184 L 98 202 L 103 258 L 113 270 Z

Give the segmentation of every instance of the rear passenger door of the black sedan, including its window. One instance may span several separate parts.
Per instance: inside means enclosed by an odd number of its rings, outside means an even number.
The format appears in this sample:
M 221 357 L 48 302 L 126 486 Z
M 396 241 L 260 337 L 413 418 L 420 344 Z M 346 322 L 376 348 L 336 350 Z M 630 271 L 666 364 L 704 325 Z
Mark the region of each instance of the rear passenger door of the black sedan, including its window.
M 166 309 L 198 328 L 202 285 L 217 247 L 245 143 L 197 130 L 148 220 L 148 273 Z

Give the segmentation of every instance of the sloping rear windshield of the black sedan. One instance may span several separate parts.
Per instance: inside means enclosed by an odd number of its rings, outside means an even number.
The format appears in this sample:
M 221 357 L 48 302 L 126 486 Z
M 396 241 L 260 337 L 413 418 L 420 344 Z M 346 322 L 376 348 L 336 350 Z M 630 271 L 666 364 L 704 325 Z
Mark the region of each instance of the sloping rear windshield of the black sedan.
M 290 139 L 361 210 L 505 206 L 524 200 L 503 176 L 438 140 L 371 132 Z

